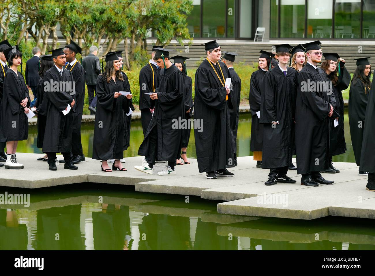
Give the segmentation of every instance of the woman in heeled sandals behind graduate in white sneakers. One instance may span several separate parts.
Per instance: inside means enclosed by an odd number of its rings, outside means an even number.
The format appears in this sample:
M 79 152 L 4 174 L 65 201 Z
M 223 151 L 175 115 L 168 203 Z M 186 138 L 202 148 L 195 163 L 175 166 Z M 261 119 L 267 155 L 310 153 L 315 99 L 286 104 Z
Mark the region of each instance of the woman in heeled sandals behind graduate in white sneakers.
M 190 164 L 189 161 L 187 161 L 186 151 L 187 151 L 187 145 L 189 145 L 189 139 L 190 139 L 190 118 L 193 113 L 193 97 L 192 97 L 192 87 L 193 82 L 191 78 L 187 75 L 186 71 L 186 63 L 185 60 L 189 59 L 188 57 L 183 56 L 174 56 L 171 57 L 171 59 L 174 60 L 174 65 L 180 69 L 182 74 L 184 75 L 184 117 L 181 119 L 185 119 L 187 124 L 186 128 L 182 130 L 182 148 L 181 148 L 181 155 L 180 159 L 177 159 L 176 164 L 177 165 L 183 165 L 183 164 Z

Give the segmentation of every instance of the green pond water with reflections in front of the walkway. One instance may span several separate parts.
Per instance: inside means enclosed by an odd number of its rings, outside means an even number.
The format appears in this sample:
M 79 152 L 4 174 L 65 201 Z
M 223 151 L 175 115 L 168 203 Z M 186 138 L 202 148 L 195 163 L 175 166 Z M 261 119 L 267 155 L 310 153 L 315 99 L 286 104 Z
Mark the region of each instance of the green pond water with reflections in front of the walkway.
M 184 196 L 133 187 L 71 187 L 27 190 L 29 208 L 0 205 L 0 250 L 375 250 L 374 220 L 243 221 L 195 196 L 186 204 Z

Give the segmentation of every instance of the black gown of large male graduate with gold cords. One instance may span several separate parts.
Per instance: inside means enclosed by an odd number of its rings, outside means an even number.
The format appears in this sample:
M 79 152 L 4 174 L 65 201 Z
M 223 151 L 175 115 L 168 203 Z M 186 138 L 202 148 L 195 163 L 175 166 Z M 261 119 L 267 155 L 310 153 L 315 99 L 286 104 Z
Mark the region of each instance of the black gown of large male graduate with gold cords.
M 215 70 L 219 77 L 230 78 L 226 65 L 220 61 Z M 224 80 L 222 80 L 224 81 Z M 207 59 L 203 60 L 195 72 L 194 119 L 200 120 L 201 132 L 194 127 L 196 158 L 199 172 L 210 172 L 233 167 L 233 135 L 229 121 L 231 93 L 226 98 L 226 89 L 217 78 Z

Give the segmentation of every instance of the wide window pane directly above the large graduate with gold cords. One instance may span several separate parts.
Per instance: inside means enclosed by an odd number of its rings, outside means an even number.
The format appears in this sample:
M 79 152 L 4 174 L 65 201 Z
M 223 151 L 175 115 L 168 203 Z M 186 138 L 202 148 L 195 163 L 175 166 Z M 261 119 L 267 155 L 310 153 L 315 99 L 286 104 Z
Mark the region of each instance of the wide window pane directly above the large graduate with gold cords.
M 203 0 L 203 37 L 225 37 L 226 0 Z

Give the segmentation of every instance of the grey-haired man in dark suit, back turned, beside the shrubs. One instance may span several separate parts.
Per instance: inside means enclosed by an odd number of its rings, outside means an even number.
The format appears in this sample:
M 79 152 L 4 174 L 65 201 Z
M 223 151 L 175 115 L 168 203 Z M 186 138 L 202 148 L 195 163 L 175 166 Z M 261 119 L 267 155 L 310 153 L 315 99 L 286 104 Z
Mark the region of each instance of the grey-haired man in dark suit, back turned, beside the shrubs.
M 90 115 L 95 114 L 96 80 L 98 79 L 98 75 L 101 73 L 99 57 L 96 56 L 97 54 L 98 54 L 98 47 L 92 45 L 90 47 L 89 55 L 85 57 L 82 61 L 82 66 L 86 71 L 86 84 L 87 84 L 87 92 L 89 93 Z M 94 98 L 94 91 L 95 91 L 95 98 Z

